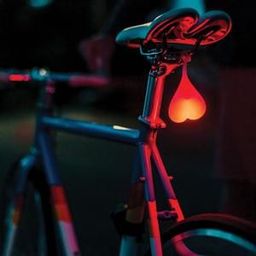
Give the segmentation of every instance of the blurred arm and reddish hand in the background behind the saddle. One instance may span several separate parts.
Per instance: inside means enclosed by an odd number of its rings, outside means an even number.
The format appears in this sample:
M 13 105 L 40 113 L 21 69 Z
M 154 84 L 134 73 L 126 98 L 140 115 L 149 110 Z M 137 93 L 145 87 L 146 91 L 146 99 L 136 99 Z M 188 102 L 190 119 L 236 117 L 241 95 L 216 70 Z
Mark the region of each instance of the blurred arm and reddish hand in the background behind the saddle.
M 79 52 L 84 56 L 91 72 L 110 73 L 113 53 L 116 49 L 114 39 L 118 32 L 128 26 L 154 20 L 155 17 L 170 9 L 179 8 L 194 8 L 200 14 L 205 10 L 203 0 L 166 0 L 161 2 L 150 0 L 147 3 L 137 0 L 119 0 L 114 5 L 113 11 L 102 29 L 80 42 Z M 139 63 L 141 62 L 139 61 Z M 125 65 L 125 61 L 122 64 Z M 136 67 L 138 66 L 136 61 L 133 61 L 132 65 L 134 64 Z

